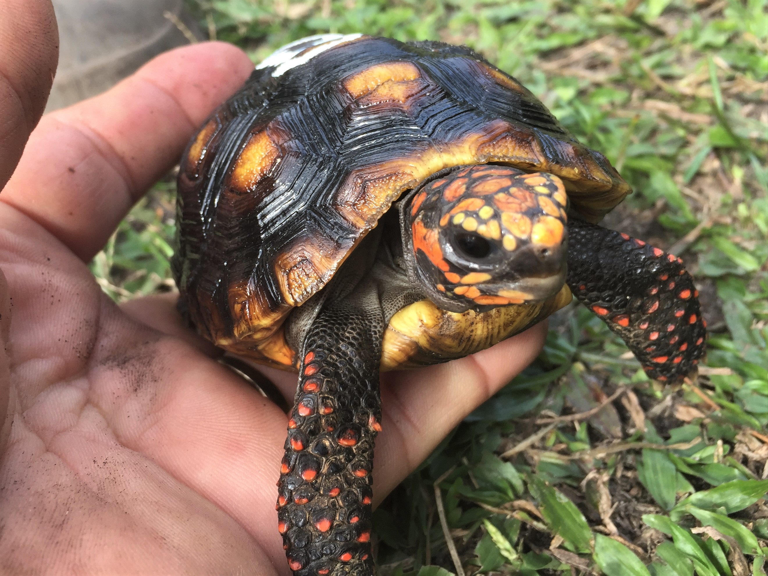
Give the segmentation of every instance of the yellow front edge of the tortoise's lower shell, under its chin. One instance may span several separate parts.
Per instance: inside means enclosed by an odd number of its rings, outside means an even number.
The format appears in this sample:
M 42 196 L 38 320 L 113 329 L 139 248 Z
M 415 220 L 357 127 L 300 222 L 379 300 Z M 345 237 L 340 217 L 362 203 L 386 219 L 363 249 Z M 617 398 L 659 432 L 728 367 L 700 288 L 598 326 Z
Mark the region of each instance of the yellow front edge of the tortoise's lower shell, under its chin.
M 486 312 L 448 312 L 430 300 L 419 300 L 389 319 L 381 367 L 425 366 L 479 352 L 533 326 L 569 302 L 568 286 L 545 302 L 498 306 Z

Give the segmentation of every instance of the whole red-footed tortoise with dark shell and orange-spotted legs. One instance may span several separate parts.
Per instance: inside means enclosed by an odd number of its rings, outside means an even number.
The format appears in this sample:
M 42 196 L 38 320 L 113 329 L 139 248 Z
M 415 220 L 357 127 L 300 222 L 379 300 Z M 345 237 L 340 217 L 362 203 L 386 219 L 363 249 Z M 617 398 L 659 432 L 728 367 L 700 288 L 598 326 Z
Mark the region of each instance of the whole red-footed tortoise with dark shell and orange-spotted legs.
M 379 369 L 492 346 L 571 293 L 651 378 L 704 352 L 680 259 L 596 225 L 629 186 L 468 48 L 286 45 L 190 142 L 178 190 L 180 310 L 300 374 L 277 494 L 295 574 L 374 571 Z

